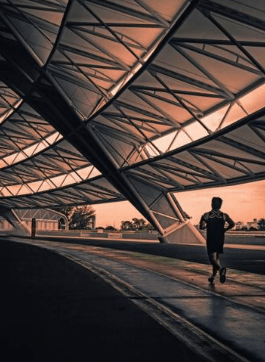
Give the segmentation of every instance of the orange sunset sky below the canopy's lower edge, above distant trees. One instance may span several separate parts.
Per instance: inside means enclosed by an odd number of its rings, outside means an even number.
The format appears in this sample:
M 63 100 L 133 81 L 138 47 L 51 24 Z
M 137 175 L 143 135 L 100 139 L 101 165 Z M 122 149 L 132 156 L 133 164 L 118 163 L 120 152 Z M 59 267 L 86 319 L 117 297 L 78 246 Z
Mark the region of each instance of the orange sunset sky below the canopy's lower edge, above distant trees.
M 265 180 L 249 182 L 236 186 L 187 191 L 175 194 L 182 208 L 192 216 L 192 223 L 197 224 L 201 215 L 211 208 L 211 198 L 223 199 L 222 210 L 235 221 L 252 221 L 265 218 Z M 96 226 L 108 225 L 119 228 L 122 220 L 142 218 L 143 216 L 127 201 L 102 205 L 93 205 L 96 210 Z

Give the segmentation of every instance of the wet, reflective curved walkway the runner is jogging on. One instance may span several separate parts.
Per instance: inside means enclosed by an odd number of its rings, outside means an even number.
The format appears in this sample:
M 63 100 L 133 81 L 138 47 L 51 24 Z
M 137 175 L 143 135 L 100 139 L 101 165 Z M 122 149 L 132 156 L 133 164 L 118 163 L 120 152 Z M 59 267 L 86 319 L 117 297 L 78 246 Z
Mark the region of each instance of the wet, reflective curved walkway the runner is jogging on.
M 265 361 L 263 275 L 228 270 L 226 283 L 221 284 L 216 279 L 211 285 L 207 281 L 210 265 L 72 243 L 37 240 L 26 243 L 54 250 L 89 270 L 103 273 L 107 281 L 111 276 L 114 287 L 117 288 L 117 283 L 121 282 L 138 293 L 137 298 L 131 296 L 131 299 L 138 299 L 138 302 L 139 299 L 151 300 L 154 308 L 158 306 L 163 313 L 168 313 L 167 316 L 173 313 L 178 323 L 185 324 L 186 330 L 181 332 L 184 339 L 185 333 L 196 331 L 194 339 L 188 342 L 191 347 L 193 343 L 196 345 L 196 338 L 203 336 L 209 339 L 207 351 L 199 346 L 201 342 L 197 347 L 201 349 L 199 353 L 209 360 Z M 154 310 L 149 314 L 164 323 L 163 313 L 156 317 L 157 310 Z M 169 327 L 167 322 L 164 325 L 177 335 L 180 325 L 174 328 Z M 211 346 L 213 349 L 218 346 L 220 350 L 209 351 Z

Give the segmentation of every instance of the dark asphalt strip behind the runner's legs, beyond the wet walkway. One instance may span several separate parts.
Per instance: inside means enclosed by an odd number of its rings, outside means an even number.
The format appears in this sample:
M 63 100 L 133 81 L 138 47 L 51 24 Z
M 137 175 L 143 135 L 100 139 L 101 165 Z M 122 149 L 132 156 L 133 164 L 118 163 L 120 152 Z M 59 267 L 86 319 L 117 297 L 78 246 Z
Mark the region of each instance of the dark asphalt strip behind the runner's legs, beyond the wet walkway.
M 49 238 L 49 240 L 51 239 Z M 56 237 L 56 241 L 59 240 L 68 243 L 94 245 L 104 248 L 160 255 L 209 265 L 204 245 L 164 244 L 152 241 L 141 242 L 109 239 L 66 239 Z M 265 246 L 265 244 L 263 245 Z M 221 262 L 223 265 L 226 265 L 227 268 L 265 275 L 265 247 L 262 250 L 262 248 L 255 245 L 249 246 L 241 244 L 236 246 L 231 245 L 228 242 L 227 247 L 224 247 L 224 254 L 221 256 Z

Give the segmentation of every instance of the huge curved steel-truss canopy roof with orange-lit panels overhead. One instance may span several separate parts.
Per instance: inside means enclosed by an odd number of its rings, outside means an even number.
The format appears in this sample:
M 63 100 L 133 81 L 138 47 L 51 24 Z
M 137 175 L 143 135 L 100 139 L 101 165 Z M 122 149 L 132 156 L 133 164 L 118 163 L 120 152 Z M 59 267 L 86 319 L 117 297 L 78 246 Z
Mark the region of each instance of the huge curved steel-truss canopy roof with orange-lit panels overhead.
M 0 0 L 0 204 L 265 178 L 265 4 Z

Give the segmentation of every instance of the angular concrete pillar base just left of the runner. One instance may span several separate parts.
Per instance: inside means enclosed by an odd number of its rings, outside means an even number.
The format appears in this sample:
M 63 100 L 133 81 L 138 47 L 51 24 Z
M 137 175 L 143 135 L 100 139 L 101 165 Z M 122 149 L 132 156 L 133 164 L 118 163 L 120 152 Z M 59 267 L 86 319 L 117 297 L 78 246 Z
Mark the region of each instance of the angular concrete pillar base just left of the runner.
M 205 244 L 206 241 L 201 233 L 188 220 L 178 225 L 176 229 L 163 236 L 159 236 L 160 243 L 169 244 Z

